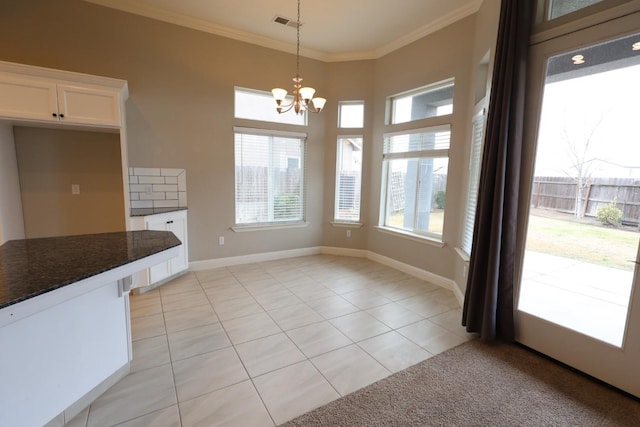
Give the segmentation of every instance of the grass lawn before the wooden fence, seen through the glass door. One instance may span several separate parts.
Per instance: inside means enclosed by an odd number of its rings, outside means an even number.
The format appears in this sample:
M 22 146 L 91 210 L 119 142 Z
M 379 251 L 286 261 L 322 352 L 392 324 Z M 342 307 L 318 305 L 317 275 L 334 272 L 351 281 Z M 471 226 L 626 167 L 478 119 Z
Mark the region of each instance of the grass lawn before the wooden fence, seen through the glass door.
M 638 231 L 531 215 L 527 250 L 632 271 Z

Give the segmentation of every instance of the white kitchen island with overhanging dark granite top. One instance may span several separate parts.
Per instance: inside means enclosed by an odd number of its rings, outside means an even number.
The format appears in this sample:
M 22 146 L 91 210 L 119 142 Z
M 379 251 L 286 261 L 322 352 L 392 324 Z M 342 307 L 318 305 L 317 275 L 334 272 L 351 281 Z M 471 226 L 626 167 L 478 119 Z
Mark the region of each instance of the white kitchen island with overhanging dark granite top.
M 145 230 L 0 246 L 0 425 L 63 425 L 124 377 L 131 276 L 180 245 Z

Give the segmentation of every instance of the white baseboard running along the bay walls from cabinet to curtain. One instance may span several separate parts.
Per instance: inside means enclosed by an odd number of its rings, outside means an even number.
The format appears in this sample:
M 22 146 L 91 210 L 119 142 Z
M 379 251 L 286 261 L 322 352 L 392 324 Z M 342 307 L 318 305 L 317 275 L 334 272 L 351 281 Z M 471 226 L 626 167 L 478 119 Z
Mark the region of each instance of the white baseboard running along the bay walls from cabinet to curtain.
M 229 267 L 232 265 L 240 265 L 240 264 L 250 264 L 254 262 L 266 262 L 266 261 L 276 261 L 280 259 L 286 258 L 295 258 L 300 256 L 309 256 L 309 255 L 338 255 L 338 256 L 352 256 L 358 258 L 367 258 L 371 261 L 378 262 L 380 264 L 386 265 L 387 267 L 395 268 L 398 271 L 402 271 L 403 273 L 410 274 L 411 276 L 417 277 L 422 280 L 426 280 L 429 283 L 433 283 L 434 285 L 441 286 L 445 289 L 449 289 L 453 292 L 456 299 L 462 305 L 464 301 L 464 295 L 460 291 L 460 288 L 451 279 L 447 279 L 446 277 L 442 277 L 430 271 L 423 270 L 418 267 L 414 267 L 409 264 L 405 264 L 403 262 L 397 261 L 393 258 L 386 257 L 384 255 L 377 254 L 375 252 L 367 251 L 365 249 L 350 249 L 350 248 L 336 248 L 332 246 L 317 246 L 311 248 L 302 248 L 302 249 L 292 249 L 288 251 L 277 251 L 277 252 L 264 252 L 259 254 L 250 254 L 250 255 L 241 255 L 235 257 L 227 257 L 227 258 L 216 258 L 204 261 L 193 261 L 189 263 L 190 271 L 201 271 L 208 270 L 211 268 L 220 268 L 220 267 Z

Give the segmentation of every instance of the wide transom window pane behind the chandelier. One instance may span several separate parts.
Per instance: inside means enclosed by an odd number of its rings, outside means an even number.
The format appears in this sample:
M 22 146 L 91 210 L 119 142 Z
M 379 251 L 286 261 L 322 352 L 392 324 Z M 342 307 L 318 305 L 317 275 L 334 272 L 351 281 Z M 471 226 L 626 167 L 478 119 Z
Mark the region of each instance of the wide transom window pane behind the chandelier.
M 290 98 L 290 96 L 287 97 L 287 100 L 290 100 Z M 307 124 L 306 114 L 297 115 L 293 112 L 278 114 L 271 92 L 240 87 L 235 88 L 234 114 L 236 119 L 260 120 L 301 126 Z

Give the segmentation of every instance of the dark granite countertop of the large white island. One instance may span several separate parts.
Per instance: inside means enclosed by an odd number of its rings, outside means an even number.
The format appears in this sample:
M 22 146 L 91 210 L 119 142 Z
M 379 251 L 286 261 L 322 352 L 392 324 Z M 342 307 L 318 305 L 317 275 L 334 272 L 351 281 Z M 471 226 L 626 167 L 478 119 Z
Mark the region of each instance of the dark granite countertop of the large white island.
M 179 246 L 168 231 L 11 240 L 0 246 L 0 308 Z

